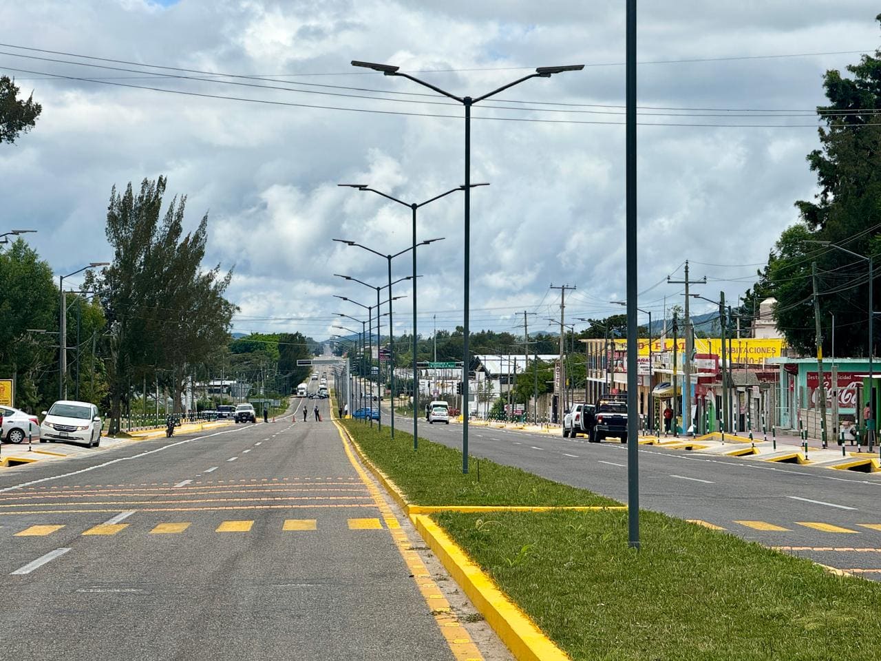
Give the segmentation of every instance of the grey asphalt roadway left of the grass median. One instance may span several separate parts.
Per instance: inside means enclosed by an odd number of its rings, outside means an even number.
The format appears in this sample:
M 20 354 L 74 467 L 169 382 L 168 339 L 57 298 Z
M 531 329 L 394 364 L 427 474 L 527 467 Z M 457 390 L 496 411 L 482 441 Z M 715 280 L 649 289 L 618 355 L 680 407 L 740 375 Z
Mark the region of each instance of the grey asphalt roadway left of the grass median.
M 453 659 L 315 401 L 0 473 L 3 657 Z

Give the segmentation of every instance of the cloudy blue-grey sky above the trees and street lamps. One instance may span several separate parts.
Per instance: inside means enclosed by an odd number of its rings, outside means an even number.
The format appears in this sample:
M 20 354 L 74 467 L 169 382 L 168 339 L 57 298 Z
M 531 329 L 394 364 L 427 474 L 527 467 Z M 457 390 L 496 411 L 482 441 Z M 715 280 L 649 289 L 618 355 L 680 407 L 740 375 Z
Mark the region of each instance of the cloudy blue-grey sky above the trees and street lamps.
M 459 96 L 585 64 L 474 106 L 471 181 L 491 185 L 474 189 L 470 227 L 471 331 L 519 332 L 523 311 L 530 332 L 552 330 L 550 286 L 563 284 L 577 287 L 566 322 L 583 328 L 578 318 L 623 311 L 609 301 L 625 294 L 624 6 L 0 4 L 0 73 L 43 107 L 32 132 L 0 145 L 0 231 L 38 230 L 28 241 L 57 274 L 109 260 L 111 188 L 167 175 L 169 199 L 187 196 L 189 227 L 208 214 L 205 268 L 233 270 L 234 331 L 360 330 L 337 313 L 366 310 L 334 295 L 370 305 L 375 291 L 334 274 L 382 286 L 388 263 L 332 239 L 405 250 L 411 210 L 337 183 L 407 203 L 462 185 L 463 108 L 350 61 L 395 64 Z M 816 193 L 805 157 L 818 148 L 823 74 L 878 47 L 876 14 L 868 0 L 640 3 L 640 308 L 659 319 L 684 302 L 666 279 L 682 279 L 685 260 L 707 277 L 694 288 L 707 298 L 751 286 L 798 220 L 793 203 Z M 418 241 L 441 237 L 418 249 L 426 336 L 463 319 L 461 192 L 418 213 Z M 392 279 L 411 269 L 409 253 L 397 257 Z M 406 296 L 395 333 L 409 332 L 410 283 L 393 293 Z

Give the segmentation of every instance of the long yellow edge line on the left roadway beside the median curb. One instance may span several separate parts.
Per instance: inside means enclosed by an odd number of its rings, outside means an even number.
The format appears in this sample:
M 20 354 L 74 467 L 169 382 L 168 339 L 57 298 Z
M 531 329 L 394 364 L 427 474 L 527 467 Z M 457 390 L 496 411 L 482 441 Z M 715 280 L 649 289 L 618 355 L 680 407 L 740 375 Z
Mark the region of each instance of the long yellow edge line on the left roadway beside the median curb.
M 333 415 L 332 406 L 330 407 L 330 411 L 331 415 Z M 331 420 L 333 419 L 331 418 Z M 456 618 L 447 599 L 430 598 L 431 595 L 437 595 L 441 590 L 438 588 L 437 583 L 433 581 L 432 575 L 428 573 L 428 569 L 422 562 L 419 554 L 412 550 L 410 540 L 407 538 L 407 533 L 403 531 L 400 524 L 392 526 L 388 523 L 389 519 L 397 521 L 397 517 L 394 512 L 392 512 L 391 508 L 389 508 L 389 503 L 382 496 L 379 487 L 376 486 L 374 481 L 370 479 L 366 471 L 355 459 L 354 454 L 352 454 L 352 448 L 350 448 L 349 442 L 346 441 L 343 427 L 340 427 L 337 420 L 333 420 L 333 422 L 337 426 L 337 432 L 339 433 L 340 440 L 343 442 L 346 457 L 349 457 L 349 462 L 352 464 L 355 472 L 358 473 L 359 478 L 374 497 L 376 506 L 380 509 L 383 519 L 389 526 L 389 534 L 395 541 L 397 552 L 401 554 L 403 561 L 407 563 L 407 568 L 410 569 L 413 580 L 416 582 L 419 592 L 422 594 L 422 598 L 426 600 L 426 605 L 431 610 L 431 613 L 434 616 L 434 621 L 437 622 L 437 626 L 441 630 L 444 639 L 447 641 L 447 646 L 453 653 L 453 657 L 455 657 L 456 661 L 484 661 L 484 657 L 480 653 L 480 650 L 478 650 L 478 646 L 471 640 L 468 630 L 464 628 L 462 623 Z

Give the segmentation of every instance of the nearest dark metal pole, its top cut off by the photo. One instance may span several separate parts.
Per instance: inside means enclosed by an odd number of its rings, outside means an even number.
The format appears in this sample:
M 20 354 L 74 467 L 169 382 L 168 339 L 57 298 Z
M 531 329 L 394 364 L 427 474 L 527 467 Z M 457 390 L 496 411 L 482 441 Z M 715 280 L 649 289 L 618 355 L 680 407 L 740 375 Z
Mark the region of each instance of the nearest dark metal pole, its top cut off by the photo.
M 640 548 L 640 428 L 637 410 L 636 324 L 636 0 L 626 10 L 626 256 L 627 256 L 627 546 Z M 687 301 L 687 299 L 686 299 Z

